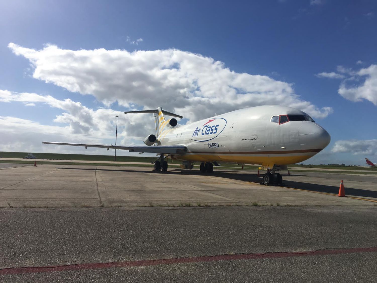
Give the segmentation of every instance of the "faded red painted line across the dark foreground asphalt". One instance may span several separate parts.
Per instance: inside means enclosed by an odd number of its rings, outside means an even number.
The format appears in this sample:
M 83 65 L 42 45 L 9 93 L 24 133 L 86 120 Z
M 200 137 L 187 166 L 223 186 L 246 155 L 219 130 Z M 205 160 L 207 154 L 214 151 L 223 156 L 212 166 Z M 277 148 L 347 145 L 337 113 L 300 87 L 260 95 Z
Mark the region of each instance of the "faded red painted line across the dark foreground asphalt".
M 350 254 L 350 253 L 360 253 L 360 252 L 377 252 L 377 247 L 354 248 L 354 249 L 322 249 L 322 250 L 317 250 L 317 251 L 306 251 L 306 252 L 268 252 L 266 254 L 215 255 L 215 256 L 207 256 L 207 257 L 167 258 L 167 259 L 158 259 L 158 260 L 115 261 L 115 262 L 109 262 L 109 263 L 78 263 L 75 265 L 61 265 L 61 266 L 4 268 L 4 269 L 0 269 L 0 275 L 57 272 L 57 271 L 68 271 L 68 270 L 72 271 L 72 270 L 97 269 L 97 268 L 168 265 L 168 264 L 208 262 L 208 261 L 221 261 L 221 260 L 250 260 L 250 259 L 280 258 L 280 257 L 303 257 L 303 256 L 310 256 L 310 255 Z

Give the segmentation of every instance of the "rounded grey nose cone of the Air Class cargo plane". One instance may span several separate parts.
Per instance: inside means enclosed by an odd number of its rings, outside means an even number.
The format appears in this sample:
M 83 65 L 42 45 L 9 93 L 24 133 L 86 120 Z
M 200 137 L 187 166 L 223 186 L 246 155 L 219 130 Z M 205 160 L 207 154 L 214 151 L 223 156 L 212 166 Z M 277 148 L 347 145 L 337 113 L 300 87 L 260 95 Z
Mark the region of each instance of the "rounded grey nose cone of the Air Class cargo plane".
M 324 149 L 330 143 L 329 133 L 316 123 L 301 126 L 299 142 L 302 149 Z

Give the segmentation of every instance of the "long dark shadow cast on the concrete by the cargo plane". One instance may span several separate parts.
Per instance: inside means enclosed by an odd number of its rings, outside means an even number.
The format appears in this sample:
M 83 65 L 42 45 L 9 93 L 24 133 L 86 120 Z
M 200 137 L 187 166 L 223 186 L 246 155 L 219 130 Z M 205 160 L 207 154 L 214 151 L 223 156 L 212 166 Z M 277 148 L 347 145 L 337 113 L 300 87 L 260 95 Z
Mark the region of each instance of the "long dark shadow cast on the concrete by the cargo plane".
M 170 169 L 166 172 L 161 171 L 152 171 L 150 169 L 146 170 L 127 170 L 127 169 L 95 169 L 95 168 L 64 168 L 64 167 L 56 167 L 57 169 L 69 169 L 69 170 L 97 170 L 97 171 L 115 171 L 115 172 L 142 172 L 142 173 L 154 173 L 154 174 L 170 174 L 170 175 L 200 175 L 203 176 L 203 173 L 201 173 L 199 170 L 184 170 L 184 169 Z M 261 183 L 262 181 L 262 174 L 261 177 L 257 177 L 256 174 L 254 174 L 254 171 L 251 171 L 253 173 L 245 174 L 245 173 L 236 173 L 236 170 L 224 170 L 224 171 L 213 171 L 213 173 L 210 173 L 211 176 L 217 176 L 222 178 L 228 178 L 232 180 L 238 180 L 238 181 L 247 181 L 247 182 L 253 182 L 253 183 Z M 304 174 L 291 174 L 291 176 L 305 176 Z M 311 183 L 303 183 L 303 182 L 297 182 L 297 181 L 287 181 L 284 180 L 283 175 L 283 182 L 286 187 L 294 188 L 294 189 L 304 189 L 307 191 L 313 191 L 313 192 L 326 192 L 330 194 L 338 194 L 339 192 L 339 186 L 327 186 L 327 185 L 317 185 L 317 184 L 311 184 Z M 330 180 L 329 180 L 330 181 Z M 263 185 L 261 185 L 263 186 Z M 283 186 L 284 187 L 284 186 Z M 370 191 L 365 189 L 356 189 L 356 188 L 349 188 L 345 187 L 345 193 L 346 195 L 353 196 L 353 197 L 370 197 L 370 198 L 377 198 L 377 191 Z

